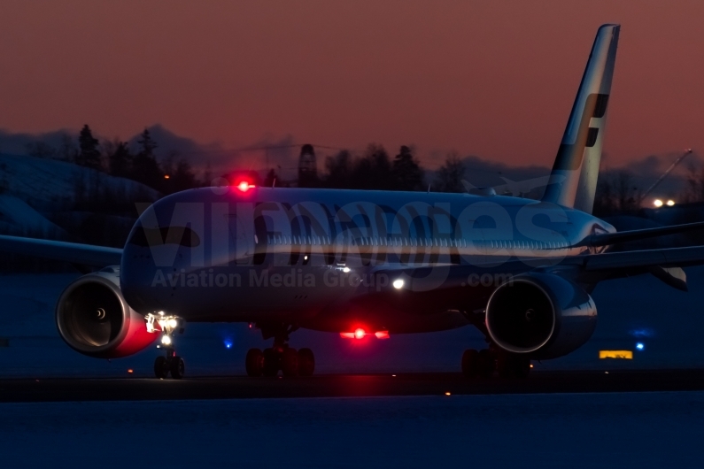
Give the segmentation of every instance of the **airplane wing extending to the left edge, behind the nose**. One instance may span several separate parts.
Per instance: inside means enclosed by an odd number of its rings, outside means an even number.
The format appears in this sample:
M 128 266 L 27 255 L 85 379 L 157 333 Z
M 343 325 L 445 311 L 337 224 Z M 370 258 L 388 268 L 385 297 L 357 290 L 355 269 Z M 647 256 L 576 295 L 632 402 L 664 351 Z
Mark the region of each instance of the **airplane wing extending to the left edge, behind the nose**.
M 122 250 L 117 248 L 7 235 L 0 235 L 0 251 L 94 267 L 120 265 L 122 259 Z

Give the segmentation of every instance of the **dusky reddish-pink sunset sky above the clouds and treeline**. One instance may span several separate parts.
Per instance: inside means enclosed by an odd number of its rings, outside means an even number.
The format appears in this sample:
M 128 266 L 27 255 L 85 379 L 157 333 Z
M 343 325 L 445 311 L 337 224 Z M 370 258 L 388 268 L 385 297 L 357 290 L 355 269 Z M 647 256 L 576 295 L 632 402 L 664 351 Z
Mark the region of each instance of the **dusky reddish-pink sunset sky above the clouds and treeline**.
M 700 0 L 5 1 L 0 128 L 552 165 L 607 22 L 622 25 L 607 164 L 704 152 Z

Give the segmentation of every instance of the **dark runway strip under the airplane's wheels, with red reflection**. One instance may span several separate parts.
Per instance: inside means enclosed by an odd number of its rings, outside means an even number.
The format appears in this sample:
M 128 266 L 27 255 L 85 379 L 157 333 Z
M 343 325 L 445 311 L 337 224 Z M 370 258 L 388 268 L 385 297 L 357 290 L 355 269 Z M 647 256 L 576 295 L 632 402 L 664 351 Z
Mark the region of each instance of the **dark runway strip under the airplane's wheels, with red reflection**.
M 151 401 L 267 397 L 442 396 L 704 390 L 704 369 L 537 372 L 526 380 L 460 373 L 327 374 L 312 378 L 203 377 L 0 380 L 0 402 Z

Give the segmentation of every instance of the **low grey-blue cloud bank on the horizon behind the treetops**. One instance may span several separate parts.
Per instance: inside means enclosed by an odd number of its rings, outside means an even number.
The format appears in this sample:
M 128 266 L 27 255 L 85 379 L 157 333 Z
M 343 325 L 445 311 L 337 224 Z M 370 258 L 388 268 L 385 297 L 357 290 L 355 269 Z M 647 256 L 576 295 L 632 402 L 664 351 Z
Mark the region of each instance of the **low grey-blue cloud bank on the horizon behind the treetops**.
M 220 176 L 236 171 L 255 170 L 263 180 L 267 170 L 265 166 L 275 169 L 280 181 L 293 181 L 297 177 L 298 153 L 302 146 L 296 142 L 291 135 L 283 136 L 279 140 L 263 140 L 253 142 L 251 145 L 240 149 L 224 148 L 217 143 L 201 144 L 194 139 L 184 135 L 175 135 L 166 127 L 155 125 L 149 127 L 152 137 L 158 147 L 155 150 L 160 162 L 165 162 L 171 158 L 177 162 L 180 159 L 188 161 L 198 178 L 204 173 L 213 173 L 213 176 Z M 35 149 L 37 143 L 43 144 L 44 150 L 56 151 L 54 157 L 61 158 L 58 153 L 66 143 L 64 139 L 69 137 L 74 145 L 74 150 L 78 144 L 78 130 L 59 129 L 45 134 L 12 134 L 0 129 L 0 153 L 24 155 L 30 154 Z M 128 136 L 129 148 L 136 153 L 141 132 Z M 113 142 L 114 139 L 96 135 L 101 147 L 106 143 Z M 361 158 L 367 151 L 367 146 L 375 144 L 367 142 L 360 144 L 357 148 L 342 149 L 329 146 L 315 147 L 318 156 L 318 173 L 321 177 L 325 174 L 325 158 L 334 157 L 340 150 L 349 150 L 352 157 Z M 383 145 L 382 145 L 383 146 Z M 268 150 L 264 150 L 268 147 Z M 398 153 L 398 148 L 383 147 L 392 159 Z M 426 184 L 435 179 L 437 170 L 445 164 L 445 158 L 453 152 L 439 153 L 435 155 L 419 154 L 416 148 L 412 147 L 414 158 L 419 160 L 422 169 L 426 173 Z M 455 152 L 456 153 L 456 152 Z M 665 171 L 666 168 L 682 154 L 681 151 L 670 151 L 660 155 L 647 154 L 642 158 L 633 159 L 627 162 L 614 162 L 608 155 L 604 155 L 601 163 L 602 178 L 614 178 L 618 173 L 629 173 L 632 182 L 640 189 L 648 187 Z M 429 157 L 434 156 L 435 159 Z M 457 154 L 465 166 L 465 179 L 478 186 L 493 186 L 503 184 L 501 177 L 507 177 L 514 181 L 523 181 L 530 178 L 544 176 L 550 172 L 549 165 L 533 164 L 510 164 L 504 161 L 493 161 L 483 158 L 481 155 Z M 425 158 L 424 158 L 425 157 Z M 104 158 L 106 156 L 104 155 Z M 614 165 L 617 163 L 618 165 Z M 658 193 L 661 196 L 677 197 L 685 188 L 686 179 L 691 177 L 691 169 L 700 168 L 702 158 L 697 152 L 688 156 L 682 164 L 669 174 L 659 186 Z M 552 164 L 552 162 L 551 162 Z M 680 195 L 681 198 L 681 195 Z

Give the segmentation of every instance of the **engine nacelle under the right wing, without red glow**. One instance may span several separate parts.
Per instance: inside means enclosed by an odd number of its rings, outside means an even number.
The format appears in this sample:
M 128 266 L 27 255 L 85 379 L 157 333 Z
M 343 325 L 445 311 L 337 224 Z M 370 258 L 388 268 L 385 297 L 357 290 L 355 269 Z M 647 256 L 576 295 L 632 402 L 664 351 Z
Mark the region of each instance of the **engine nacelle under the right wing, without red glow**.
M 502 349 L 557 358 L 587 342 L 597 308 L 583 288 L 550 273 L 525 273 L 499 286 L 486 306 L 486 327 Z

